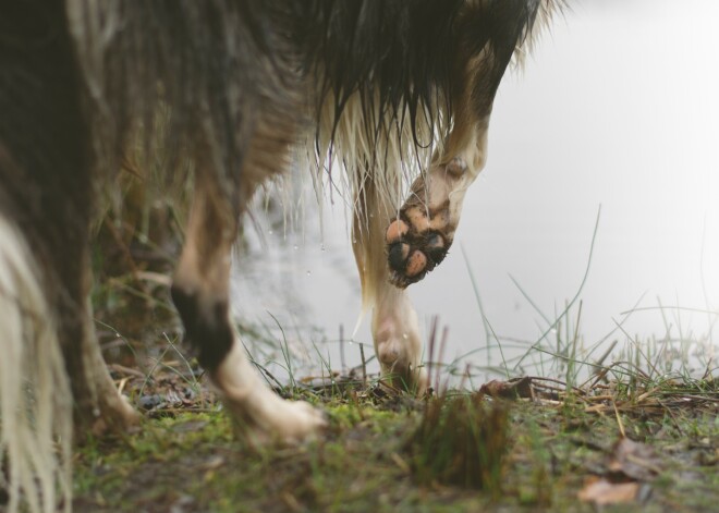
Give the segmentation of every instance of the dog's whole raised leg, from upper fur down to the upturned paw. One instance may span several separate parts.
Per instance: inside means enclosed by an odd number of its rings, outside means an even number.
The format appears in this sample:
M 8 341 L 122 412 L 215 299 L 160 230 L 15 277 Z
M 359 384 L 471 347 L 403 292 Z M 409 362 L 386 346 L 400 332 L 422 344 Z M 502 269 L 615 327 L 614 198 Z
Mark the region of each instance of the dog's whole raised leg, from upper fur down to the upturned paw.
M 452 130 L 385 233 L 390 281 L 399 288 L 422 280 L 447 256 L 466 191 L 487 161 L 489 115 L 523 37 L 527 9 L 521 1 L 488 3 L 474 5 L 478 9 L 475 14 L 468 9 L 465 19 L 478 16 L 486 26 L 501 29 L 483 36 L 472 23 L 458 23 L 455 72 L 449 91 Z

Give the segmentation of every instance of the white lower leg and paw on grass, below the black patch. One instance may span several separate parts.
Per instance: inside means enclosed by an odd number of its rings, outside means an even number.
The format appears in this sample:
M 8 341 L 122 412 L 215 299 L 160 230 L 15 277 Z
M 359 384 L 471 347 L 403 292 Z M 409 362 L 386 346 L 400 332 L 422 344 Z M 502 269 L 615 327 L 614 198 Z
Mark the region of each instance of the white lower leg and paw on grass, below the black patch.
M 212 382 L 236 418 L 246 423 L 247 435 L 253 441 L 278 439 L 297 443 L 312 438 L 327 425 L 321 412 L 308 403 L 285 401 L 268 389 L 236 339 L 214 374 Z

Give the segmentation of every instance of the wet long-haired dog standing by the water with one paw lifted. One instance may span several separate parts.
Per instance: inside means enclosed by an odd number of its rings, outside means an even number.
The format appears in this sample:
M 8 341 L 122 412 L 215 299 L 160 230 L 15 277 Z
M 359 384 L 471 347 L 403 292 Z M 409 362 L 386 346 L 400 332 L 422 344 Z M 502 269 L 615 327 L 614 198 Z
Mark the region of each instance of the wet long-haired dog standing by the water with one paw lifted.
M 194 198 L 171 296 L 231 415 L 298 442 L 322 414 L 267 389 L 229 318 L 255 191 L 302 155 L 343 170 L 381 371 L 422 393 L 406 286 L 447 255 L 495 94 L 561 0 L 24 0 L 0 3 L 0 489 L 71 509 L 73 433 L 124 429 L 95 340 L 90 221 L 130 141 L 161 136 Z M 158 112 L 167 113 L 162 130 Z M 337 179 L 336 176 L 333 179 Z M 320 183 L 321 180 L 316 180 Z M 23 505 L 24 504 L 24 505 Z

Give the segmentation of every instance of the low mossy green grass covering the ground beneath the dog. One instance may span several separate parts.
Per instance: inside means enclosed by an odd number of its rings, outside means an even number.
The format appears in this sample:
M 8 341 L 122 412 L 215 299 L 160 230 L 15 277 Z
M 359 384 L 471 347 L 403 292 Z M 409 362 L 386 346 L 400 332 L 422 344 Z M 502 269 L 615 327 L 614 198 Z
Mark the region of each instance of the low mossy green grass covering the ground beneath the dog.
M 593 511 L 577 492 L 609 473 L 624 432 L 661 459 L 647 501 L 622 511 L 710 511 L 719 500 L 718 392 L 711 382 L 687 384 L 642 401 L 619 400 L 621 388 L 544 399 L 551 394 L 537 387 L 534 400 L 511 403 L 326 387 L 297 392 L 330 419 L 326 436 L 298 448 L 244 445 L 217 403 L 159 406 L 137 432 L 77 451 L 75 510 Z

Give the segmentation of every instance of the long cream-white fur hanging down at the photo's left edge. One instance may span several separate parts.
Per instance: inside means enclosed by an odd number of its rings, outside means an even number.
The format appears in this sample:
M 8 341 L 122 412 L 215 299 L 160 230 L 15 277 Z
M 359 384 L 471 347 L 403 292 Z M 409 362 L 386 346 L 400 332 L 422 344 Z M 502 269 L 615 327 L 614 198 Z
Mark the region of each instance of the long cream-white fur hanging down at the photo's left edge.
M 9 512 L 23 502 L 33 512 L 54 512 L 58 499 L 70 511 L 71 398 L 33 255 L 0 217 L 0 466 L 7 468 L 0 488 L 10 496 Z

